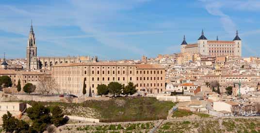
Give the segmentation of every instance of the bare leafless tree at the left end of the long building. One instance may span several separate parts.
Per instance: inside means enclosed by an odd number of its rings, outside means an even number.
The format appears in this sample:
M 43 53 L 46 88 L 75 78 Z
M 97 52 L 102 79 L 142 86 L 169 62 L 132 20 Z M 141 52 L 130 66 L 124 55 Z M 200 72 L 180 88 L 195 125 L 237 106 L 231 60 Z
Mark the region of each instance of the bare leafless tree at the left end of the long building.
M 42 95 L 45 93 L 48 95 L 50 92 L 54 92 L 54 90 L 57 91 L 57 89 L 59 89 L 59 85 L 54 78 L 43 78 L 37 85 L 37 91 Z

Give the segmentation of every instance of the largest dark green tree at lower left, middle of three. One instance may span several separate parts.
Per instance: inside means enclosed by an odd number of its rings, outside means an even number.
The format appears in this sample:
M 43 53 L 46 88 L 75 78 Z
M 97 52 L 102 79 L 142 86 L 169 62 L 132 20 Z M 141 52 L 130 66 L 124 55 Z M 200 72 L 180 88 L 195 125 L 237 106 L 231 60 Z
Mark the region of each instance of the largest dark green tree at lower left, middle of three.
M 34 103 L 32 107 L 27 108 L 28 117 L 33 120 L 32 127 L 37 132 L 43 132 L 50 125 L 50 111 L 42 103 Z

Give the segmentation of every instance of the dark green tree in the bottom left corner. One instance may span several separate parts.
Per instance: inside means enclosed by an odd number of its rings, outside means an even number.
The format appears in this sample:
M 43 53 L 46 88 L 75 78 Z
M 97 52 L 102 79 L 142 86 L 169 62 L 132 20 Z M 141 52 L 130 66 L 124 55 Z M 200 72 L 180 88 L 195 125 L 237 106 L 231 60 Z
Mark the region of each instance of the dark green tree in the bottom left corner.
M 2 120 L 2 127 L 8 133 L 26 133 L 26 131 L 29 129 L 29 124 L 23 120 L 18 120 L 17 118 L 13 117 L 9 111 L 7 111 L 7 114 L 2 116 Z

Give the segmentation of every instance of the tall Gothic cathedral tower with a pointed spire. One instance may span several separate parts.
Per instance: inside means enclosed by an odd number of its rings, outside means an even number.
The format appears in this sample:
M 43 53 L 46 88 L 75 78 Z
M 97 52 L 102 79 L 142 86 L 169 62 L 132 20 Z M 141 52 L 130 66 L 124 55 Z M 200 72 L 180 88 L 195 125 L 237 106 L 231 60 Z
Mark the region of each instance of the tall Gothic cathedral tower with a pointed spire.
M 35 36 L 33 32 L 33 21 L 31 23 L 31 30 L 27 42 L 26 59 L 27 59 L 27 64 L 26 64 L 27 70 L 39 69 L 39 63 L 37 59 L 37 46 L 35 43 Z

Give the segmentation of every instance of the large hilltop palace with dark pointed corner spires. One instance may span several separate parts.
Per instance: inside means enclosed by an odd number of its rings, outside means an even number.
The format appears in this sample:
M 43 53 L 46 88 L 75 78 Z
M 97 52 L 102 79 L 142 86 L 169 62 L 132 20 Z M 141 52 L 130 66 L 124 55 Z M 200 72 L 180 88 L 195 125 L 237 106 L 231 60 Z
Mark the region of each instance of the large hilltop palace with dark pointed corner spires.
M 185 36 L 183 42 L 180 45 L 181 53 L 190 54 L 201 54 L 205 56 L 240 56 L 242 53 L 242 40 L 238 36 L 238 31 L 236 33 L 233 41 L 220 41 L 218 37 L 216 40 L 208 40 L 204 36 L 202 30 L 201 36 L 199 37 L 197 43 L 187 44 L 185 41 Z

